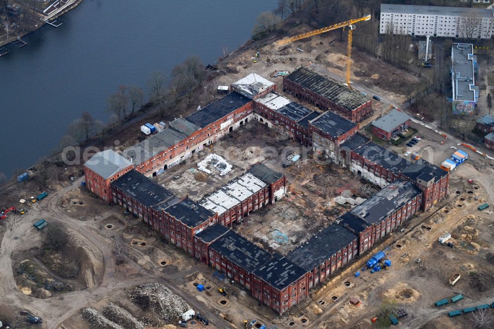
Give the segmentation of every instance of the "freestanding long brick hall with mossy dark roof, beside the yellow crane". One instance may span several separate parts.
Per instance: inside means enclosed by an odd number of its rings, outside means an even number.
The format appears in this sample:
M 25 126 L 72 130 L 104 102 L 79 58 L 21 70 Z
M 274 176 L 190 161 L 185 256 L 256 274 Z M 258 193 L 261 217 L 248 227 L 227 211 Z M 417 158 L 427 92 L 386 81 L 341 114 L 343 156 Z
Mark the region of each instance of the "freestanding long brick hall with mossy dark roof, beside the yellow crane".
M 359 91 L 300 67 L 283 77 L 283 90 L 324 111 L 332 111 L 351 122 L 371 115 L 371 100 Z

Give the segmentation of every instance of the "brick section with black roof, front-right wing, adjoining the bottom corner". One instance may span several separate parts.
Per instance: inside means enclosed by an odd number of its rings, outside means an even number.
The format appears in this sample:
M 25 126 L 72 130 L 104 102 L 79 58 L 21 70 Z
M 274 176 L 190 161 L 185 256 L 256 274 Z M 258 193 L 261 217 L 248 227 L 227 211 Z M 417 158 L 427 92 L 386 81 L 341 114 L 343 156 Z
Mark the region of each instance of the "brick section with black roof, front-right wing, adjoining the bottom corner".
M 358 254 L 358 235 L 333 224 L 296 247 L 287 258 L 308 272 L 310 289 L 334 276 Z

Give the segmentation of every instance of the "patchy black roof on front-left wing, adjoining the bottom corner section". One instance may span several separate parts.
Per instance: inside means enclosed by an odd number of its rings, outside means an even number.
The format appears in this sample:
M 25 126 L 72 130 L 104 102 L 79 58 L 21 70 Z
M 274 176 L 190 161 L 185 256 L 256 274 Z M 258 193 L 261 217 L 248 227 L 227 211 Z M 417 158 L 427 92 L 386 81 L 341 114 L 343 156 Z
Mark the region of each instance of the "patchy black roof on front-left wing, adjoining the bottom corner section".
M 271 255 L 267 251 L 257 247 L 232 230 L 213 242 L 209 248 L 216 250 L 249 272 L 253 272 L 271 259 Z

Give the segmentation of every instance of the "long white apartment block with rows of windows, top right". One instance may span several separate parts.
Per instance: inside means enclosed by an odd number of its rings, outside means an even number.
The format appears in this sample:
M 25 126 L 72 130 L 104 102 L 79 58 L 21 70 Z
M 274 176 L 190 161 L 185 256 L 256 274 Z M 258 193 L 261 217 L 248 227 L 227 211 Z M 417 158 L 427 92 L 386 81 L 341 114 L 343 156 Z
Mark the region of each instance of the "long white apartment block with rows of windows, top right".
M 494 9 L 381 4 L 379 33 L 490 39 Z

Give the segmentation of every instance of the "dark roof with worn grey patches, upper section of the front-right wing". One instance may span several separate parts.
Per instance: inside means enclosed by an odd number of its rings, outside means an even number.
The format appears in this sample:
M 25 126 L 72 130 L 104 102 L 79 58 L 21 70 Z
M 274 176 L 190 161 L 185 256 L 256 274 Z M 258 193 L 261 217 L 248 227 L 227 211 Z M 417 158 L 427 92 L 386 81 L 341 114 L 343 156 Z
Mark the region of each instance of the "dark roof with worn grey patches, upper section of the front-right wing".
M 412 182 L 398 179 L 350 210 L 350 213 L 369 224 L 376 224 L 420 193 Z

